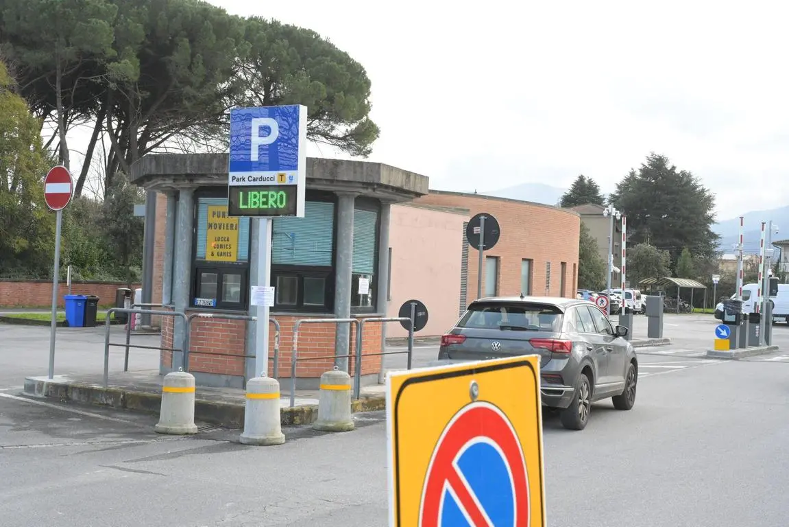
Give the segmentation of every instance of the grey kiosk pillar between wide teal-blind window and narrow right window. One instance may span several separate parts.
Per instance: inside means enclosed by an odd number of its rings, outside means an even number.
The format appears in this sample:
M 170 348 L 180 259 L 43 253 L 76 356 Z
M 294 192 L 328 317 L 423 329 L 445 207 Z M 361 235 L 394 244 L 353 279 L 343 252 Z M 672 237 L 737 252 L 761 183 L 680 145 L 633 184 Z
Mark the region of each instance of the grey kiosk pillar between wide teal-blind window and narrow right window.
M 353 208 L 356 193 L 337 193 L 337 247 L 335 247 L 335 316 L 350 318 L 351 274 L 353 272 Z M 350 325 L 338 324 L 335 355 L 348 355 Z M 335 358 L 335 366 L 348 371 L 348 358 Z

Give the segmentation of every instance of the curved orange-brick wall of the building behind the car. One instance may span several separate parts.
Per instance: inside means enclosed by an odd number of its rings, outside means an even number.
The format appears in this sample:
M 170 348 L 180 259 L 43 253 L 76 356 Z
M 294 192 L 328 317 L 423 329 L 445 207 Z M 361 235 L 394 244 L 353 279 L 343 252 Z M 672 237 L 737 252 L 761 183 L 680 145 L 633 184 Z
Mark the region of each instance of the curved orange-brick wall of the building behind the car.
M 533 260 L 531 288 L 537 296 L 560 295 L 559 277 L 561 262 L 565 262 L 565 291 L 567 297 L 574 297 L 577 281 L 578 238 L 581 218 L 578 213 L 559 209 L 550 205 L 540 205 L 528 201 L 507 198 L 493 198 L 475 194 L 431 191 L 416 200 L 425 205 L 462 207 L 469 209 L 469 216 L 490 213 L 499 221 L 501 235 L 499 243 L 485 256 L 498 256 L 499 295 L 521 294 L 521 260 Z M 476 249 L 469 247 L 469 288 L 467 300 L 477 298 L 478 255 Z M 546 291 L 546 265 L 551 262 L 551 284 Z M 576 269 L 574 272 L 573 269 Z M 484 295 L 484 269 L 483 269 Z

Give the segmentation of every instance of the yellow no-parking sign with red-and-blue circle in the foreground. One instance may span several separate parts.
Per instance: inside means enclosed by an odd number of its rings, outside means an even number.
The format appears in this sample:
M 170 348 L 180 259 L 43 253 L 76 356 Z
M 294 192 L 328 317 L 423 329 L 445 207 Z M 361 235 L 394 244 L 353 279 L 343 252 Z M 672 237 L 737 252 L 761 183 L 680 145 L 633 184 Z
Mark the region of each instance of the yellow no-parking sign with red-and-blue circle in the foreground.
M 539 356 L 390 371 L 386 394 L 390 527 L 544 527 Z

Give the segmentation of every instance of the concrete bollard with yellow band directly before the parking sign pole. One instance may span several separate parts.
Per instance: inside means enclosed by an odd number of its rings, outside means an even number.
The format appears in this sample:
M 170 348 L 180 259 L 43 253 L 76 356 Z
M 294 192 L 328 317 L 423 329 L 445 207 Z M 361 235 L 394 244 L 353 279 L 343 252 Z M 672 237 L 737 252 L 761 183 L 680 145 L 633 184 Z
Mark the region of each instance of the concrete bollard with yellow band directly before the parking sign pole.
M 280 419 L 279 381 L 271 377 L 250 378 L 241 442 L 245 445 L 282 445 L 285 435 Z

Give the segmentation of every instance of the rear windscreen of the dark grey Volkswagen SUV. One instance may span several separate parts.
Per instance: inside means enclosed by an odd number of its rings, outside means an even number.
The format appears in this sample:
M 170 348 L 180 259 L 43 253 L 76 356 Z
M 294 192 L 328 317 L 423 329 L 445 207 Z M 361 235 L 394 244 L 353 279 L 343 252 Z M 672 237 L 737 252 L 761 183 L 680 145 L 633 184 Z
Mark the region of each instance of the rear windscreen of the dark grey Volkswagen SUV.
M 562 311 L 550 304 L 480 302 L 469 306 L 458 328 L 559 332 Z

